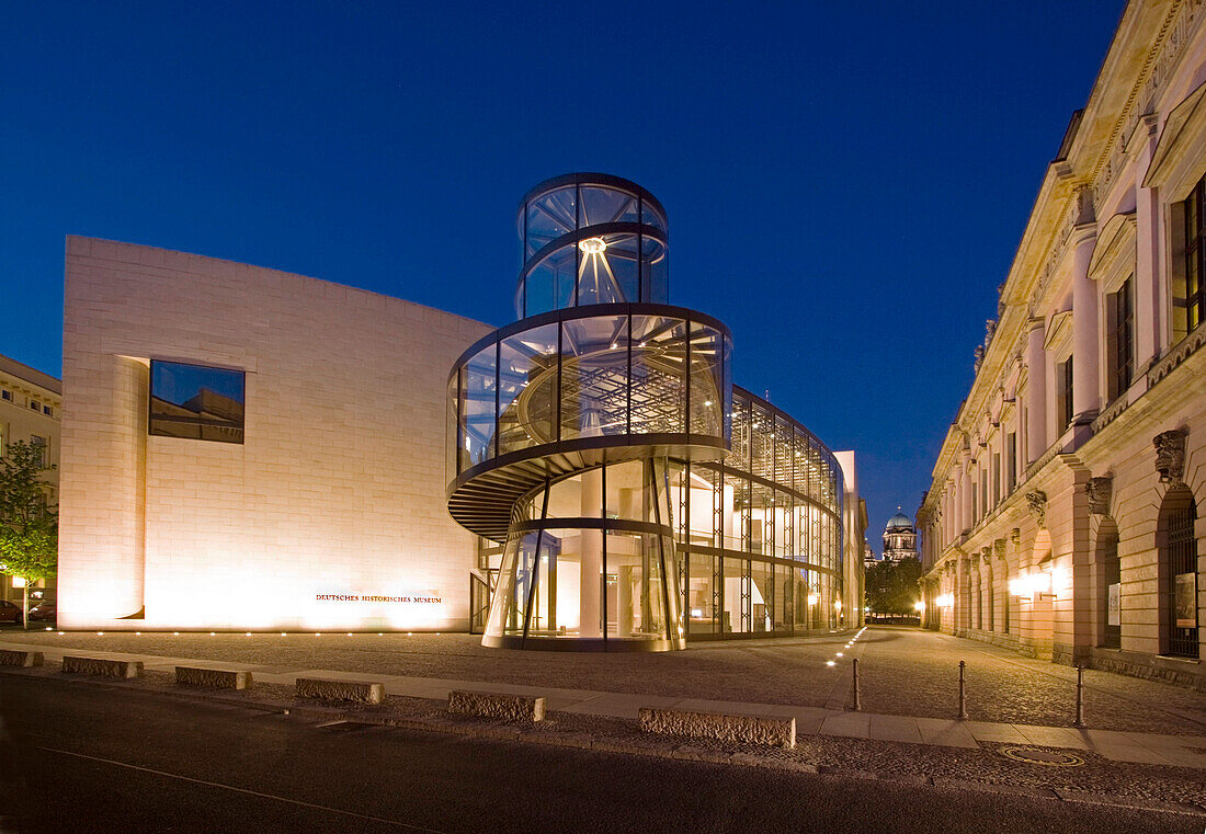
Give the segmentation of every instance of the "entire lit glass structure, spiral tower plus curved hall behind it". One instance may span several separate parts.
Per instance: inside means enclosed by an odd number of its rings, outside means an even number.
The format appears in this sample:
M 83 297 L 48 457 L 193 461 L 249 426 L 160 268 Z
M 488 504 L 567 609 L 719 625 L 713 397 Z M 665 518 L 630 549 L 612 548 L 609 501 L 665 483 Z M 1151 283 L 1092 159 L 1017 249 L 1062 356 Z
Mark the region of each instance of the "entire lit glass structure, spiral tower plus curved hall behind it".
M 721 322 L 666 303 L 657 200 L 558 177 L 523 199 L 519 233 L 522 318 L 447 381 L 449 510 L 505 542 L 478 564 L 484 642 L 666 650 L 839 626 L 842 468 L 734 389 Z

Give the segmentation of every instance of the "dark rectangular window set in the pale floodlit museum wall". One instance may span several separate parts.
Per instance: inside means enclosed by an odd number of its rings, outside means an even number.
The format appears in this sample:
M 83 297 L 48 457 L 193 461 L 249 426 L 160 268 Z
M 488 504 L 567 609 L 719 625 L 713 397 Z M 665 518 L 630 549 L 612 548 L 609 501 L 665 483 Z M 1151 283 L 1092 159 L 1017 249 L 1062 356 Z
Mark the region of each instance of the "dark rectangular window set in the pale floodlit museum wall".
M 242 371 L 151 362 L 153 435 L 241 444 L 242 404 Z

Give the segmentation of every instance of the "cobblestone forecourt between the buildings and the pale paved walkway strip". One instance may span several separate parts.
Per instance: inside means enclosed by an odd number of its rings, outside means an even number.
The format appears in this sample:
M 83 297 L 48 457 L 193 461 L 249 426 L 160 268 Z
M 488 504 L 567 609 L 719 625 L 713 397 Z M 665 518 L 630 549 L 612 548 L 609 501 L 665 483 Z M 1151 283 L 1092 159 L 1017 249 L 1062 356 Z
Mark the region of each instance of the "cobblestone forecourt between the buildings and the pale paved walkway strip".
M 467 634 L 316 638 L 0 630 L 0 642 L 233 660 L 277 670 L 329 669 L 830 709 L 845 704 L 848 660 L 857 657 L 865 711 L 946 718 L 956 713 L 962 659 L 972 720 L 1072 722 L 1073 669 L 915 628 L 871 628 L 847 648 L 850 636 L 692 644 L 685 652 L 640 654 L 492 650 Z M 1206 734 L 1206 694 L 1094 670 L 1085 671 L 1085 691 L 1090 728 Z

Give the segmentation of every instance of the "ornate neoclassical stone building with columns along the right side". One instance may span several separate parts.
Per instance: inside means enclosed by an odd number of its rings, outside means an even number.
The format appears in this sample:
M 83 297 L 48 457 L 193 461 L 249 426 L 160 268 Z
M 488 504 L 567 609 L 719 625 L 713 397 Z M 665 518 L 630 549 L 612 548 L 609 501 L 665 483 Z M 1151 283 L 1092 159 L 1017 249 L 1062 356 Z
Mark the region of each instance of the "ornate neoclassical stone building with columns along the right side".
M 1206 0 L 1128 5 L 919 511 L 926 624 L 1206 688 Z

